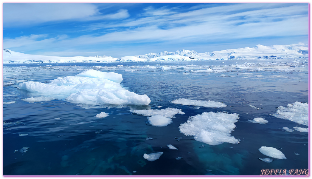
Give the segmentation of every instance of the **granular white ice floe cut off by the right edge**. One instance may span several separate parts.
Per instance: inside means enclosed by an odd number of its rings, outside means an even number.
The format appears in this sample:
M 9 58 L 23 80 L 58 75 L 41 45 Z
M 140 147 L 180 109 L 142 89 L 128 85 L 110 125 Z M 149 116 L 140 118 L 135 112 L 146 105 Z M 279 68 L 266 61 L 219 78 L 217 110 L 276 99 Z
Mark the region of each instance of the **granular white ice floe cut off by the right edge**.
M 308 103 L 294 102 L 288 104 L 287 107 L 280 106 L 277 109 L 277 112 L 272 114 L 272 116 L 309 126 Z

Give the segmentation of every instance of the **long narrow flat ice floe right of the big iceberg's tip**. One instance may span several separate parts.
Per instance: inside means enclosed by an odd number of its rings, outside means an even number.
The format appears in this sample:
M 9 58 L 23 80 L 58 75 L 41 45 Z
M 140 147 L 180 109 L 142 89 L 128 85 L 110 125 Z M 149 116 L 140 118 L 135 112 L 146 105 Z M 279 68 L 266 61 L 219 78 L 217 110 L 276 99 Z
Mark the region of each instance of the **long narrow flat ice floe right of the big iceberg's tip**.
M 179 98 L 176 100 L 173 100 L 172 103 L 174 104 L 182 104 L 182 105 L 191 105 L 191 106 L 203 106 L 203 107 L 227 107 L 222 102 L 217 101 L 200 101 L 200 100 L 191 100 L 191 99 L 185 99 L 185 98 Z

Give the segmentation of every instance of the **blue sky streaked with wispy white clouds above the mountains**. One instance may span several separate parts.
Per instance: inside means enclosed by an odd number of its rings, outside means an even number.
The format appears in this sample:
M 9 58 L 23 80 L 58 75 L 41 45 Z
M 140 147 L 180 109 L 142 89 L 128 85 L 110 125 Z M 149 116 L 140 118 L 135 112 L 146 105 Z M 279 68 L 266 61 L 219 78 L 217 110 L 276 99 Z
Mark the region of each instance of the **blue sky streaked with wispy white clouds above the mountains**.
M 302 45 L 308 44 L 308 22 L 308 3 L 4 3 L 3 47 L 118 58 Z

